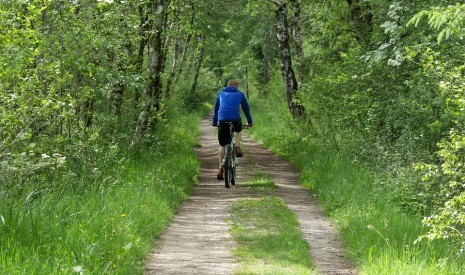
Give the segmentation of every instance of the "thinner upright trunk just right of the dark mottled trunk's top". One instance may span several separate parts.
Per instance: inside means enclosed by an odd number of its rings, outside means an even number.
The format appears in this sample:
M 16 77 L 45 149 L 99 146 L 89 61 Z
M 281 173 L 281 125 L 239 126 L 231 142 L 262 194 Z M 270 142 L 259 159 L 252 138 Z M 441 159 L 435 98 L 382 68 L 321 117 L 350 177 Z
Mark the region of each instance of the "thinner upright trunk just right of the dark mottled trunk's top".
M 304 72 L 304 49 L 302 46 L 302 19 L 301 19 L 301 12 L 302 12 L 302 5 L 301 0 L 289 0 L 291 2 L 291 6 L 293 9 L 293 16 L 292 16 L 292 35 L 294 37 L 294 44 L 295 44 L 295 60 L 297 63 L 297 81 L 299 85 L 303 82 L 303 72 Z

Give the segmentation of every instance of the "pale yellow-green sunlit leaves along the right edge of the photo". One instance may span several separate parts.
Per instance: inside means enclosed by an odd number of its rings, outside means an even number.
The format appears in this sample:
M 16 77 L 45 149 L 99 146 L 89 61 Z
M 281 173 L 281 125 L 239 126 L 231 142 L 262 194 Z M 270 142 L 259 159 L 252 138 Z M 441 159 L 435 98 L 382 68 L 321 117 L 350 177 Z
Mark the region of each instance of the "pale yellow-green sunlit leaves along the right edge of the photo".
M 439 30 L 438 44 L 435 50 L 427 48 L 423 53 L 424 71 L 437 78 L 436 85 L 443 100 L 441 119 L 435 125 L 444 126 L 442 138 L 437 142 L 435 159 L 418 164 L 422 172 L 426 194 L 434 194 L 431 203 L 435 206 L 423 222 L 429 231 L 421 239 L 447 239 L 458 243 L 465 249 L 463 200 L 465 192 L 465 94 L 463 92 L 463 47 L 454 42 L 462 39 L 465 18 L 465 5 L 456 4 L 447 8 L 432 8 L 417 13 L 409 22 L 418 26 L 424 16 L 428 25 Z M 445 40 L 451 40 L 449 43 Z

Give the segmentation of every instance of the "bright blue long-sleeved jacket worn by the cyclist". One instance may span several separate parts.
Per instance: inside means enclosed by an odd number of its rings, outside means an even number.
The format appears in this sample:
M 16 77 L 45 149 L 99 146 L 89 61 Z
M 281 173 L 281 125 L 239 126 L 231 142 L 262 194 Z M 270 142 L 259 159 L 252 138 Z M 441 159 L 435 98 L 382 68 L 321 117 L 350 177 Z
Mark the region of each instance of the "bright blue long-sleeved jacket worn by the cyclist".
M 249 104 L 245 95 L 235 87 L 223 88 L 216 97 L 213 126 L 216 126 L 218 121 L 240 120 L 239 107 L 242 107 L 247 122 L 252 124 L 252 116 L 250 116 Z

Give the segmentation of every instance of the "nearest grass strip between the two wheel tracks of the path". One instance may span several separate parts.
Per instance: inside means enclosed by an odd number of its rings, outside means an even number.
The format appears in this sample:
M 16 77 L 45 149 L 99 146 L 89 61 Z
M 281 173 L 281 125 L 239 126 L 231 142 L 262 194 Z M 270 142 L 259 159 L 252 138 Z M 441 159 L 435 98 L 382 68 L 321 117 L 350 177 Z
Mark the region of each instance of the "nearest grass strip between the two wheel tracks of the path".
M 296 216 L 274 196 L 233 204 L 231 233 L 240 262 L 236 274 L 313 274 Z M 315 273 L 316 274 L 316 273 Z

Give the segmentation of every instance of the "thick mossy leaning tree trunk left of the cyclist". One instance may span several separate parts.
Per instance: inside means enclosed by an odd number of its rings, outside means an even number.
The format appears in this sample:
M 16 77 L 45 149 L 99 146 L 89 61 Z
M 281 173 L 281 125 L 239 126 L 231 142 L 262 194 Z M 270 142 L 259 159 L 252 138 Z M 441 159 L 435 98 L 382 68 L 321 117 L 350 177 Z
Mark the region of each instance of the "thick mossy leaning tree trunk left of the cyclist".
M 160 106 L 162 62 L 164 60 L 162 34 L 166 17 L 166 5 L 169 0 L 153 1 L 149 8 L 152 32 L 147 40 L 148 46 L 148 79 L 142 98 L 142 110 L 139 114 L 136 130 L 132 138 L 131 147 L 137 145 L 149 125 L 149 119 L 153 111 L 158 111 Z

